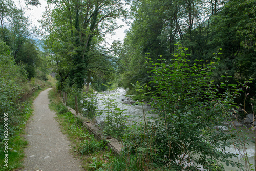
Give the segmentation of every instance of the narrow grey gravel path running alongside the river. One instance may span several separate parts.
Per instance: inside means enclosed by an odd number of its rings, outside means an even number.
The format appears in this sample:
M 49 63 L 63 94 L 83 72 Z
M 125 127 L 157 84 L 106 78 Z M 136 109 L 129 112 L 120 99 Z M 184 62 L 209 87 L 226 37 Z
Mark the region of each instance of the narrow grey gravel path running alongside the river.
M 69 153 L 69 141 L 60 131 L 54 119 L 55 112 L 49 109 L 48 91 L 42 91 L 34 101 L 34 116 L 30 119 L 25 138 L 24 171 L 83 170 L 79 160 Z

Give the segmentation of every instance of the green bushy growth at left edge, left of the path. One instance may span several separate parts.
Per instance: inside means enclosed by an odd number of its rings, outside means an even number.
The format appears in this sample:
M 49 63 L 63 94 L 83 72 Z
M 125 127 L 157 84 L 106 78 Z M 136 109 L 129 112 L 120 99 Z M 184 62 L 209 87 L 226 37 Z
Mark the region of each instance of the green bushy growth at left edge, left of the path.
M 0 137 L 4 134 L 4 113 L 8 113 L 10 125 L 19 124 L 19 117 L 25 108 L 23 103 L 19 103 L 24 94 L 22 84 L 25 83 L 27 75 L 22 67 L 15 64 L 10 55 L 9 47 L 0 41 Z M 13 129 L 10 127 L 10 133 Z

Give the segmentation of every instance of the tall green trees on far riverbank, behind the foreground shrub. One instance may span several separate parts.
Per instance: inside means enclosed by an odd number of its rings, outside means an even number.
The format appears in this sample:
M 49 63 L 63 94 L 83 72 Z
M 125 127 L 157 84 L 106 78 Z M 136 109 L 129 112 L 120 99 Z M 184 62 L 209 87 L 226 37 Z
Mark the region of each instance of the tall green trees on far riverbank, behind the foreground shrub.
M 138 80 L 152 86 L 145 54 L 153 62 L 157 62 L 159 54 L 170 60 L 177 42 L 188 48 L 191 61 L 214 61 L 212 53 L 222 48 L 221 60 L 212 74 L 218 84 L 224 81 L 221 76 L 225 73 L 232 76 L 230 84 L 255 78 L 255 0 L 130 2 L 134 21 L 119 50 L 125 69 L 120 81 L 124 88 L 134 89 L 130 83 Z M 192 67 L 193 62 L 188 65 Z M 249 86 L 249 96 L 253 98 L 255 82 Z M 236 103 L 243 101 L 237 99 Z M 248 103 L 246 109 L 250 110 Z

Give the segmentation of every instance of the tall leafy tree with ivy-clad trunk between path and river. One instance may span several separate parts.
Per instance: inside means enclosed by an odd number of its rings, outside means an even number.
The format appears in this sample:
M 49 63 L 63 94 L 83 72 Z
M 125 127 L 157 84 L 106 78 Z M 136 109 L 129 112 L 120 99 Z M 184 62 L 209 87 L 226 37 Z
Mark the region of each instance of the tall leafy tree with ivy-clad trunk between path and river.
M 117 28 L 115 18 L 124 15 L 125 11 L 120 0 L 65 0 L 52 3 L 56 4 L 56 8 L 48 15 L 53 18 L 53 30 L 47 36 L 47 41 L 58 46 L 57 49 L 55 46 L 51 47 L 54 56 L 59 56 L 54 58 L 59 60 L 56 60 L 57 66 L 62 60 L 70 66 L 68 72 L 63 72 L 58 66 L 60 82 L 63 84 L 68 78 L 70 85 L 75 84 L 81 89 L 84 79 L 89 79 L 91 75 L 88 66 L 91 64 L 91 54 L 98 51 L 95 46 L 100 44 L 105 34 Z M 45 18 L 42 26 L 49 29 L 47 21 L 49 19 Z

